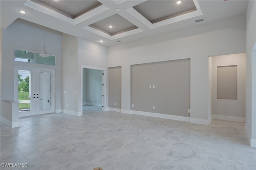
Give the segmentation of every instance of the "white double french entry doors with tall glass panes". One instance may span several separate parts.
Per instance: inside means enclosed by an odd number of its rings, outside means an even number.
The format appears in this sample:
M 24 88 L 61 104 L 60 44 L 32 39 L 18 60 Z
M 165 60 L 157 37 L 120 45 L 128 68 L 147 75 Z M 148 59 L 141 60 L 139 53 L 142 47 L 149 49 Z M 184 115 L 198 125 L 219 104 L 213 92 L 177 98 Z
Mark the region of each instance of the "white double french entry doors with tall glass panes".
M 54 112 L 54 69 L 15 67 L 19 117 Z

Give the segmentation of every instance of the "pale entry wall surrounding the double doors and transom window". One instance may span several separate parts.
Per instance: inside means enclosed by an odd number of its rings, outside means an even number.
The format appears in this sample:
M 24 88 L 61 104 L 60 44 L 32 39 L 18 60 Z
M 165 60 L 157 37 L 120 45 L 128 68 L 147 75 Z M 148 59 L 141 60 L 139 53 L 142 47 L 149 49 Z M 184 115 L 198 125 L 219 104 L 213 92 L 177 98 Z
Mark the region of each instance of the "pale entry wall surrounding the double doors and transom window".
M 14 49 L 42 52 L 44 27 L 17 19 L 2 31 L 2 81 L 1 99 L 14 99 L 14 65 L 47 67 L 55 69 L 55 109 L 61 109 L 61 33 L 46 28 L 46 52 L 56 55 L 56 66 L 14 62 Z

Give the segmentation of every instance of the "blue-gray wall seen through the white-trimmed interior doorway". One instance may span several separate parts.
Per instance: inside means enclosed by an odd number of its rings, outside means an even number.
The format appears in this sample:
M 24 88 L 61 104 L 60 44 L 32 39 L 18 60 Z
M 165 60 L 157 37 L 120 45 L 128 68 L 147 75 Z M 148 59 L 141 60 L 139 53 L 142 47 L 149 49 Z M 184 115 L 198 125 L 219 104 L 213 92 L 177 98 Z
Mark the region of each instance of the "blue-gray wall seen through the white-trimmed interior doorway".
M 86 69 L 84 78 L 86 78 L 86 103 L 102 105 L 102 70 Z

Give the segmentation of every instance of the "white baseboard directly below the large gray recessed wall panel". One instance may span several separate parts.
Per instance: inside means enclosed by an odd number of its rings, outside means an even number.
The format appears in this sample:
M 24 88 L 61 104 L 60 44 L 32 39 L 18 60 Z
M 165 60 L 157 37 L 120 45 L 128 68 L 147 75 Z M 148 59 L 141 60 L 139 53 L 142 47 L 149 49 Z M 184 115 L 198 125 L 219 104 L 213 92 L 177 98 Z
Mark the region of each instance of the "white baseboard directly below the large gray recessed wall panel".
M 183 117 L 183 116 L 166 115 L 166 114 L 142 112 L 142 111 L 131 111 L 131 113 L 134 115 L 143 115 L 143 116 L 158 117 L 158 118 L 164 118 L 164 119 L 172 119 L 176 121 L 189 122 L 189 117 Z

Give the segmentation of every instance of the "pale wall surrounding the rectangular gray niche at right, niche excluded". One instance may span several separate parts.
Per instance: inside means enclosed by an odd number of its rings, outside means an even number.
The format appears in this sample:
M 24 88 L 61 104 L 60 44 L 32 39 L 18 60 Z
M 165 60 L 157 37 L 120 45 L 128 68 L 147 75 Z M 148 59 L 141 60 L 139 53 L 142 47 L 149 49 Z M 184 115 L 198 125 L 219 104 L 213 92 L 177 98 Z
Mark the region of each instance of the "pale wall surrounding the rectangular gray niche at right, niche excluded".
M 212 57 L 212 114 L 245 117 L 245 53 Z M 217 99 L 217 67 L 237 65 L 237 100 Z

